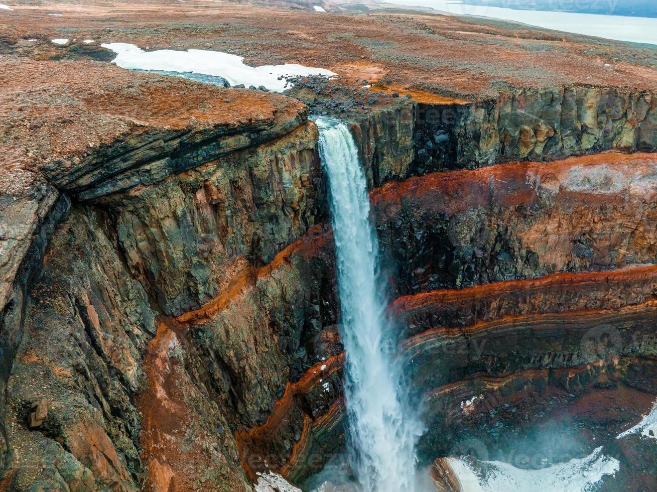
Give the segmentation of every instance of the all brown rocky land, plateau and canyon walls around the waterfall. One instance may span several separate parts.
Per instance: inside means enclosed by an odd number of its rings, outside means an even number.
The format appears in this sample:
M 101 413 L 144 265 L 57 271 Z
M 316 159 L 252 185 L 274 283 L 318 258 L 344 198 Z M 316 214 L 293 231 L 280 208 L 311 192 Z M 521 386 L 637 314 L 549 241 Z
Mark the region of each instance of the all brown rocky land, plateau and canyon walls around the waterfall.
M 657 51 L 331 3 L 90 5 L 0 17 L 1 488 L 306 490 L 343 452 L 317 114 L 363 166 L 432 487 L 464 490 L 450 457 L 600 446 L 600 490 L 657 487 L 654 439 L 616 438 L 657 401 Z M 217 87 L 101 41 L 337 75 Z

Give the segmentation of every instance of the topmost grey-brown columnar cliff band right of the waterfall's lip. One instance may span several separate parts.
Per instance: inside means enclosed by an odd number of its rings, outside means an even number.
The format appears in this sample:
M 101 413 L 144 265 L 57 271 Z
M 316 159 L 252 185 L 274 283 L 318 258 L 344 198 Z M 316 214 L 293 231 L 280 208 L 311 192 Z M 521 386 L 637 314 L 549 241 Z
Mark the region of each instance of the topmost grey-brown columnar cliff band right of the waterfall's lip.
M 381 96 L 392 89 L 382 85 L 371 91 Z M 439 170 L 515 160 L 656 150 L 657 108 L 647 91 L 507 86 L 495 98 L 474 101 L 412 89 L 401 93 L 413 95 L 413 102 L 380 108 L 367 117 L 342 116 L 353 122 L 372 187 Z

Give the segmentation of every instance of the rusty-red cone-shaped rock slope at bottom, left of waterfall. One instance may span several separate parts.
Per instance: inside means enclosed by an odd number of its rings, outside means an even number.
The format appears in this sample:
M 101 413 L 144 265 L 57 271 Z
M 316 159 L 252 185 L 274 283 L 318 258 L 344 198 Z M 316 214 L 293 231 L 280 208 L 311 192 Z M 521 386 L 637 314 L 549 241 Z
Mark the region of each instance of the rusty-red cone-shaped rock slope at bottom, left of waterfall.
M 250 491 L 222 393 L 184 327 L 160 321 L 144 357 L 139 445 L 152 490 Z

